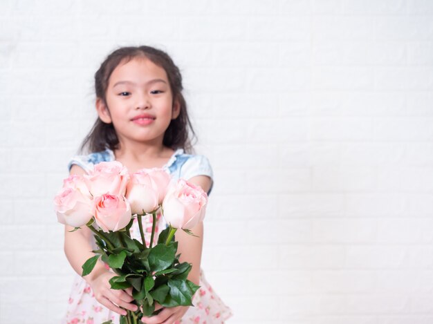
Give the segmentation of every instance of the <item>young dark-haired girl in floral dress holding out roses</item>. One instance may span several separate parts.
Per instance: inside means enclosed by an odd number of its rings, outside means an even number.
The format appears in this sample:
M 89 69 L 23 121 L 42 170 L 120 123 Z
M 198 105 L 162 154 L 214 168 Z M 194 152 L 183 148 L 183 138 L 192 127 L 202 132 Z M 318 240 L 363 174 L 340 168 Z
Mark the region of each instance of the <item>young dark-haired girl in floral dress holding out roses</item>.
M 188 128 L 192 131 L 192 126 L 182 89 L 181 73 L 163 51 L 140 46 L 111 53 L 95 73 L 99 117 L 81 146 L 81 151 L 87 148 L 91 154 L 75 156 L 68 165 L 70 173 L 82 175 L 99 162 L 117 160 L 131 173 L 143 168 L 163 168 L 172 177 L 185 178 L 209 194 L 213 180 L 208 159 L 188 154 L 192 150 Z M 147 231 L 151 231 L 151 221 L 143 218 Z M 160 215 L 156 222 L 159 233 L 166 225 Z M 131 235 L 140 240 L 137 228 L 135 220 Z M 71 229 L 65 228 L 64 251 L 77 276 L 64 323 L 118 323 L 119 314 L 126 314 L 125 309 L 137 309 L 131 303 L 131 290 L 111 289 L 109 279 L 115 274 L 101 261 L 91 274 L 80 276 L 81 266 L 93 256 L 95 242 L 86 227 L 73 232 Z M 231 316 L 200 269 L 203 223 L 192 231 L 199 237 L 177 231 L 176 240 L 181 262 L 192 263 L 188 279 L 201 286 L 194 294 L 194 307 L 166 307 L 157 316 L 142 318 L 144 323 L 212 324 L 223 323 Z

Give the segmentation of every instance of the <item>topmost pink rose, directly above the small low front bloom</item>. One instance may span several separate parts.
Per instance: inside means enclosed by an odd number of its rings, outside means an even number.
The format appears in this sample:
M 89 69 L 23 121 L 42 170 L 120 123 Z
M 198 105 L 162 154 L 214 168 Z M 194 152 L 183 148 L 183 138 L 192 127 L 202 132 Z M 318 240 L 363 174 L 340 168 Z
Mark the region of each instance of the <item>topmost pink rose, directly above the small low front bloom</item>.
M 129 173 L 122 163 L 117 161 L 100 162 L 89 175 L 84 175 L 89 191 L 95 196 L 104 193 L 124 196 L 129 181 Z

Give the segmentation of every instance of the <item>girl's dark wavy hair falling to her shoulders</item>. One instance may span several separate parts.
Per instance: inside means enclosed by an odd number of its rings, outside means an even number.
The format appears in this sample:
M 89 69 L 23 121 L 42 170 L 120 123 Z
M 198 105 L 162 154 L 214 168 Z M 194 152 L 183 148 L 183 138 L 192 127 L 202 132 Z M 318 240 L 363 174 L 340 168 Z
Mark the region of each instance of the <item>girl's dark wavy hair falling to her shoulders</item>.
M 173 104 L 177 100 L 181 104 L 181 112 L 175 120 L 172 120 L 164 133 L 163 145 L 171 149 L 184 149 L 187 153 L 192 153 L 192 139 L 196 139 L 196 134 L 192 128 L 190 117 L 187 113 L 187 104 L 183 97 L 182 75 L 173 60 L 163 50 L 151 46 L 128 46 L 114 50 L 102 62 L 100 68 L 95 73 L 95 95 L 103 100 L 107 106 L 106 92 L 109 79 L 113 70 L 122 61 L 130 61 L 134 57 L 145 57 L 157 66 L 160 66 L 167 73 L 169 86 L 172 90 Z M 190 132 L 192 138 L 190 138 Z M 96 120 L 89 134 L 84 137 L 80 146 L 80 152 L 88 153 L 100 152 L 105 149 L 114 151 L 119 148 L 119 139 L 113 123 L 107 124 L 100 118 Z

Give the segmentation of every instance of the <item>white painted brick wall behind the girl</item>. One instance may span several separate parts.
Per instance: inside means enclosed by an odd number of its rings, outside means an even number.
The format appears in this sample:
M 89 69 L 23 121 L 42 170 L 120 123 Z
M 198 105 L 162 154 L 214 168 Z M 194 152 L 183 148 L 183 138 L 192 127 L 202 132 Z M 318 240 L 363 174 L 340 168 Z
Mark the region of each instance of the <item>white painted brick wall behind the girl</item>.
M 433 1 L 0 1 L 0 323 L 59 323 L 52 198 L 120 45 L 163 48 L 230 323 L 433 323 Z

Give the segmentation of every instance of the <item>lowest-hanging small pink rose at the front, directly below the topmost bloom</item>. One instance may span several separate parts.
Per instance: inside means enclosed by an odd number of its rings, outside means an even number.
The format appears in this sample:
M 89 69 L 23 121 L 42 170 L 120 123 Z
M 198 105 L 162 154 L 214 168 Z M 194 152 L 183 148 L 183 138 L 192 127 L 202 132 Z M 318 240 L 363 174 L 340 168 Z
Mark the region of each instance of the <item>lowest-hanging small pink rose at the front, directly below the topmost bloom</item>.
M 129 202 L 122 196 L 104 193 L 93 200 L 96 224 L 102 231 L 118 231 L 132 218 Z

